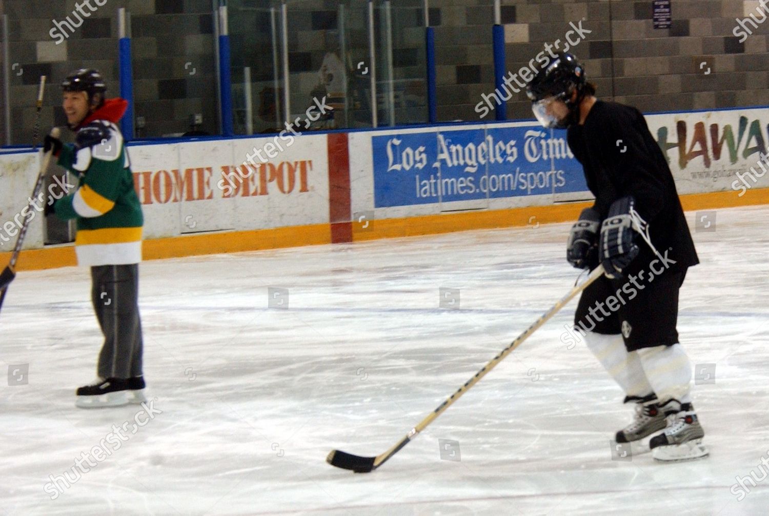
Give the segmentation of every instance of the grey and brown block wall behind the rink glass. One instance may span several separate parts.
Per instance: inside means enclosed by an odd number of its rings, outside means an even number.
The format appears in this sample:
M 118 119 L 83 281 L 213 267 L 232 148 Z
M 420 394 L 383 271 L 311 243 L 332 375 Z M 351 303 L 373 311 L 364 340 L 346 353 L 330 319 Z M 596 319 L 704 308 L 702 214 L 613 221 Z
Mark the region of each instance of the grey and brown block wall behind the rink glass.
M 96 0 L 91 0 L 92 4 Z M 101 0 L 104 1 L 104 0 Z M 189 129 L 190 117 L 203 115 L 202 129 L 215 133 L 215 58 L 211 0 L 106 0 L 59 45 L 49 35 L 53 21 L 74 18 L 75 0 L 0 0 L 11 19 L 10 61 L 14 143 L 32 139 L 39 75 L 48 75 L 41 127 L 63 123 L 58 83 L 81 66 L 99 68 L 108 93 L 118 95 L 117 8 L 132 15 L 135 115 L 145 118 L 142 135 Z M 309 104 L 327 42 L 338 31 L 341 2 L 311 0 L 289 4 L 291 111 Z M 368 59 L 366 2 L 348 7 L 348 65 Z M 380 5 L 377 2 L 376 5 Z M 757 0 L 672 0 L 671 28 L 655 29 L 652 0 L 503 0 L 507 68 L 528 64 L 544 43 L 564 40 L 570 22 L 591 31 L 573 52 L 585 62 L 598 95 L 636 105 L 644 112 L 767 105 L 769 23 L 744 24 L 752 35 L 734 35 L 735 18 L 753 13 Z M 270 111 L 272 51 L 268 11 L 278 2 L 230 0 L 236 128 L 243 126 L 240 83 L 251 66 L 255 131 L 273 127 Z M 421 0 L 393 0 L 394 78 L 398 82 L 397 123 L 420 122 L 424 108 L 424 31 Z M 493 92 L 491 0 L 431 0 L 438 77 L 438 119 L 478 120 L 475 106 Z M 378 29 L 381 11 L 378 11 Z M 76 21 L 76 18 L 75 18 Z M 381 50 L 381 42 L 378 44 Z M 0 56 L 2 57 L 2 56 Z M 381 58 L 381 56 L 380 56 Z M 18 64 L 18 65 L 17 65 Z M 378 65 L 379 78 L 382 78 Z M 362 80 L 361 80 L 362 79 Z M 367 79 L 358 77 L 358 102 L 351 126 L 365 126 Z M 367 109 L 368 112 L 367 112 Z M 381 124 L 387 123 L 383 113 Z M 490 114 L 486 119 L 493 118 Z M 523 92 L 508 102 L 508 118 L 531 118 Z M 5 131 L 5 128 L 3 128 Z M 3 138 L 4 140 L 5 138 Z

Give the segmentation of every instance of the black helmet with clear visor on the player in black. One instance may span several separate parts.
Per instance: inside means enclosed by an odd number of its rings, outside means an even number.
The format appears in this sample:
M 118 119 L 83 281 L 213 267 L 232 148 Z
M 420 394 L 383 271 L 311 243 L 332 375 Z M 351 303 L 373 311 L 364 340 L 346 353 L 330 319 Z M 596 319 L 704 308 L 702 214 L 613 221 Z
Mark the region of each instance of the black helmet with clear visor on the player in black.
M 558 53 L 547 66 L 542 68 L 526 86 L 526 95 L 532 102 L 532 110 L 544 127 L 566 128 L 574 122 L 578 106 L 584 98 L 584 67 L 577 57 L 568 52 Z M 578 92 L 574 102 L 571 95 Z M 563 101 L 569 108 L 570 115 L 563 120 L 556 120 L 546 114 L 546 107 L 553 100 Z

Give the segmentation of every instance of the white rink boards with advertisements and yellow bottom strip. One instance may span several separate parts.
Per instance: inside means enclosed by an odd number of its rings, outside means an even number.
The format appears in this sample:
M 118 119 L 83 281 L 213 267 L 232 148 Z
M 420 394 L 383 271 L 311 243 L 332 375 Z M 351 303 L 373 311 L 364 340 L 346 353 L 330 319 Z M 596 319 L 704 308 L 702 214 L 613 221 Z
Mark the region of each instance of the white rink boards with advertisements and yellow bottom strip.
M 769 108 L 646 118 L 684 208 L 769 202 Z M 592 197 L 565 131 L 532 121 L 134 142 L 128 153 L 148 259 L 537 227 Z M 32 151 L 0 154 L 0 251 L 12 249 L 40 163 Z M 35 213 L 19 268 L 73 265 L 71 246 L 42 249 L 42 224 Z

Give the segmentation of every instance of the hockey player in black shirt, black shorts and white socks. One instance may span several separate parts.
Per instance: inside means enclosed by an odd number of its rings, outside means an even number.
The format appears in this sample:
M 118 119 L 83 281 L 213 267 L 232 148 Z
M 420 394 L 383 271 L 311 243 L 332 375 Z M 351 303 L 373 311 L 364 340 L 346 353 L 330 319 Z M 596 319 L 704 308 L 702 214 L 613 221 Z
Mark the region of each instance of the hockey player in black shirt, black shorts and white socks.
M 691 363 L 678 343 L 678 290 L 697 252 L 673 175 L 636 108 L 595 98 L 584 68 L 559 54 L 527 87 L 546 128 L 568 145 L 595 196 L 571 228 L 567 259 L 606 274 L 581 295 L 575 328 L 633 403 L 618 443 L 649 441 L 660 461 L 707 455 L 691 404 Z

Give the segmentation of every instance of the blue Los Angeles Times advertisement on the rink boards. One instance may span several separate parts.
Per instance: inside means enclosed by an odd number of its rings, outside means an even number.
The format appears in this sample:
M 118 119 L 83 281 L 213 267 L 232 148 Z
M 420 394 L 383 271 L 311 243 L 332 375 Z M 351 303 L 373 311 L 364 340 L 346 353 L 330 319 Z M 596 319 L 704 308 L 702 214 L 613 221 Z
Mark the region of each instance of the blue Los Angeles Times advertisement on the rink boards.
M 371 145 L 375 208 L 588 190 L 566 131 L 426 129 Z

